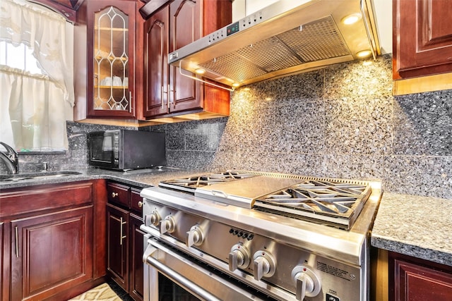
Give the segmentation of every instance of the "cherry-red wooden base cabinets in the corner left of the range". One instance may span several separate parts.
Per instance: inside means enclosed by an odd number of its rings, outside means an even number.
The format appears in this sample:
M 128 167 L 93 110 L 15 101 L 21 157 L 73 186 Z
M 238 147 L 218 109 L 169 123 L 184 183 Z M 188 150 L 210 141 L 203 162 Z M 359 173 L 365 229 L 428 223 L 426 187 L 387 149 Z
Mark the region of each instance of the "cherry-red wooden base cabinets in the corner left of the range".
M 0 300 L 69 300 L 107 277 L 143 300 L 140 192 L 105 180 L 1 190 Z

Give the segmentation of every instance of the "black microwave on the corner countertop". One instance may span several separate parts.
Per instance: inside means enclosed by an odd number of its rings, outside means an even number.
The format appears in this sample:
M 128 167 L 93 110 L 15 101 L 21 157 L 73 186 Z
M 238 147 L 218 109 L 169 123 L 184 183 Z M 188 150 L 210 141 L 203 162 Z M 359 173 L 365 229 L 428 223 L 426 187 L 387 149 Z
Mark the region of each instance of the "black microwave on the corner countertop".
M 115 170 L 166 165 L 165 133 L 103 130 L 88 133 L 91 166 Z

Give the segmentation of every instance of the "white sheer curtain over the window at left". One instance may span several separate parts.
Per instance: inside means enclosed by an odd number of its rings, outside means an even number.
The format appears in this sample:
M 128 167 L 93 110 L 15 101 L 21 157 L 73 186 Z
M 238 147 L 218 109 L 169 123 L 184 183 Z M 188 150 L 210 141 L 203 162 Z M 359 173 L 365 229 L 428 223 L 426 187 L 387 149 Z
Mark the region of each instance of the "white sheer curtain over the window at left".
M 72 44 L 57 13 L 11 0 L 0 2 L 0 39 L 27 44 L 46 75 L 0 66 L 0 141 L 18 150 L 67 149 L 66 120 L 72 120 Z

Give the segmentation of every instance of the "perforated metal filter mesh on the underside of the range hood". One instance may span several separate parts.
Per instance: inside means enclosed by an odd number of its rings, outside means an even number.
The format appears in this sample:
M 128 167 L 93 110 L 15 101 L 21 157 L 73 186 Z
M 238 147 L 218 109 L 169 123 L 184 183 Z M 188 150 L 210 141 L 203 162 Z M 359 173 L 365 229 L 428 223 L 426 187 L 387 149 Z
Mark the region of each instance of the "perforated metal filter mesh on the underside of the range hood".
M 266 73 L 351 55 L 331 16 L 200 63 L 212 73 L 243 82 Z

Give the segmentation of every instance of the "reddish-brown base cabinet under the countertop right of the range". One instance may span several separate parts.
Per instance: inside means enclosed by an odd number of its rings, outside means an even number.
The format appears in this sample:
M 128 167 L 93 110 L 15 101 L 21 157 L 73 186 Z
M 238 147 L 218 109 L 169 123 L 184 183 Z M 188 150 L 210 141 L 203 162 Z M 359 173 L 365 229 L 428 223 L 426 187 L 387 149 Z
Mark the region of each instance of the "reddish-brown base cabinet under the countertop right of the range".
M 389 252 L 390 301 L 452 300 L 452 267 Z

